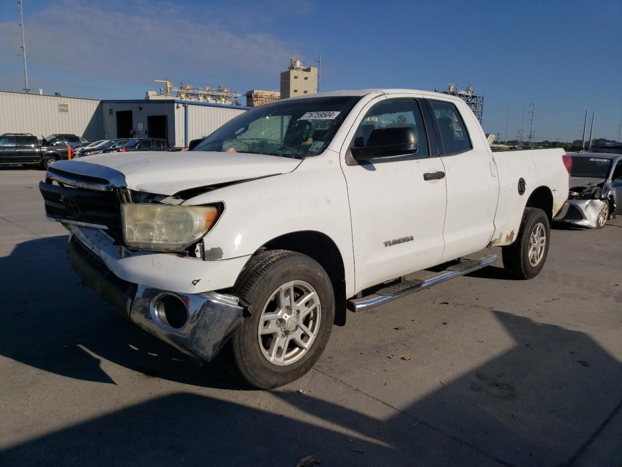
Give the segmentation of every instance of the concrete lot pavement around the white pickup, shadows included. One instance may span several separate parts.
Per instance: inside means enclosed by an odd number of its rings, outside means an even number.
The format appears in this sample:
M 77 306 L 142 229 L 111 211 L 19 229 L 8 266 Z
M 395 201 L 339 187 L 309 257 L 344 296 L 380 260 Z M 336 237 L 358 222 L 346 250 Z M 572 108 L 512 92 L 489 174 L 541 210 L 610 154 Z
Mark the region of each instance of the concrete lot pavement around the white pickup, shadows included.
M 1 466 L 622 465 L 622 219 L 552 230 L 534 280 L 497 263 L 350 313 L 267 392 L 82 287 L 42 176 L 0 167 Z

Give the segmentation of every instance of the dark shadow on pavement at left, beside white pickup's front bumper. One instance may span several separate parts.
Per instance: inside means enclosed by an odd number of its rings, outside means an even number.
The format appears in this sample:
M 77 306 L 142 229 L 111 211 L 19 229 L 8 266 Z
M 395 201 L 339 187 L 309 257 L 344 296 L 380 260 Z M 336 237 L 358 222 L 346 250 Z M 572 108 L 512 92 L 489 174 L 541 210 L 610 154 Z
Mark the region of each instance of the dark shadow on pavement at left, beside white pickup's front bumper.
M 101 359 L 199 386 L 241 389 L 218 362 L 198 367 L 188 356 L 137 328 L 82 286 L 67 260 L 67 236 L 20 243 L 0 258 L 7 309 L 0 353 L 29 366 L 114 384 Z

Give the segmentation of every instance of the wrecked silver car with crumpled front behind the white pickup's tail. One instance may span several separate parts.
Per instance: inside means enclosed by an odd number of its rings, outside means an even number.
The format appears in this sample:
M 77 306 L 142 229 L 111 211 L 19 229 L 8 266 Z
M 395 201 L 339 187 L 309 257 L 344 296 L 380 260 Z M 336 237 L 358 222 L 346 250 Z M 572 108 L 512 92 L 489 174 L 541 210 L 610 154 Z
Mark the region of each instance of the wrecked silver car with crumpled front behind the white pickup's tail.
M 619 151 L 601 152 L 601 151 Z M 569 153 L 569 196 L 556 220 L 602 229 L 622 214 L 622 146 L 595 146 L 586 153 Z

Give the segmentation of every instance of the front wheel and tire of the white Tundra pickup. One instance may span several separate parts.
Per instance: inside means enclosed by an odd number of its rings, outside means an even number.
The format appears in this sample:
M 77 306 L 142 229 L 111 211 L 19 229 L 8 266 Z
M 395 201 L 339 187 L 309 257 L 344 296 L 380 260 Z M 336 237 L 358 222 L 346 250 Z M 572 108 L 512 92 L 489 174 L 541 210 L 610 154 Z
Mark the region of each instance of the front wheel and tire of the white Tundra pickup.
M 335 294 L 322 266 L 302 253 L 258 253 L 233 293 L 249 303 L 251 314 L 223 348 L 234 376 L 272 389 L 307 373 L 322 355 L 335 319 Z

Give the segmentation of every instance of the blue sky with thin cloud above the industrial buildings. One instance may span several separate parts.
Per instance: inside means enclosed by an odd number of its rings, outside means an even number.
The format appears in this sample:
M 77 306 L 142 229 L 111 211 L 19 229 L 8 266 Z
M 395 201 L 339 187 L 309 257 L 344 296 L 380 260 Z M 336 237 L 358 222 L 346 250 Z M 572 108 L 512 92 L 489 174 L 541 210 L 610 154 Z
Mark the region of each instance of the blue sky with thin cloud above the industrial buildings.
M 0 89 L 24 76 L 17 1 L 0 5 Z M 30 88 L 142 98 L 155 78 L 278 89 L 290 55 L 322 54 L 322 89 L 472 83 L 486 133 L 618 138 L 622 2 L 24 0 Z M 588 121 L 589 126 L 589 121 Z

